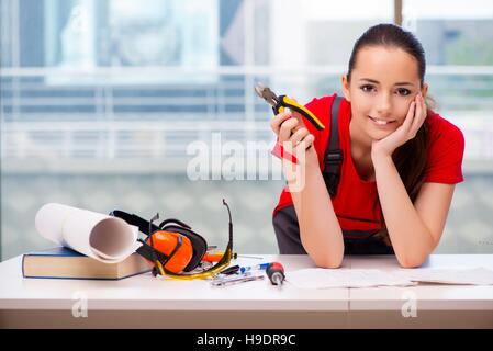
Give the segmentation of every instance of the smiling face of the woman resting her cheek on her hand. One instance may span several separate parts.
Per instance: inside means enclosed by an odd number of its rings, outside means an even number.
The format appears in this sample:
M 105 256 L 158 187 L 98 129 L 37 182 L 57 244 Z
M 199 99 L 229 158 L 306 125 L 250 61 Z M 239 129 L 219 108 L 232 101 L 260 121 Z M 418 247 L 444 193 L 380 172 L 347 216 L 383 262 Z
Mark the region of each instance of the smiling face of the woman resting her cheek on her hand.
M 350 81 L 343 77 L 345 97 L 351 102 L 351 124 L 365 138 L 380 140 L 405 120 L 417 93 L 425 97 L 416 59 L 401 48 L 367 46 L 359 50 Z

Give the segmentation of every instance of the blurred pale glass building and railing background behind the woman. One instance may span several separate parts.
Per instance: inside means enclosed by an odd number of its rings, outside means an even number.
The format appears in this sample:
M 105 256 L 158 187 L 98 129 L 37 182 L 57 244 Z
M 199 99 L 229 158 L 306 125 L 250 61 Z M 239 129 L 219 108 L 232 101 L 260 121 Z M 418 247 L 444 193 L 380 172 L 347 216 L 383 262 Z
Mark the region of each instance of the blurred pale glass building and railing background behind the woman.
M 284 182 L 257 147 L 273 135 L 253 87 L 340 93 L 356 38 L 380 22 L 417 35 L 437 110 L 466 136 L 436 252 L 493 253 L 492 1 L 0 0 L 1 260 L 54 246 L 34 228 L 47 202 L 159 212 L 221 247 L 223 197 L 236 250 L 276 253 Z M 201 180 L 187 173 L 197 143 Z M 222 177 L 227 162 L 244 180 Z

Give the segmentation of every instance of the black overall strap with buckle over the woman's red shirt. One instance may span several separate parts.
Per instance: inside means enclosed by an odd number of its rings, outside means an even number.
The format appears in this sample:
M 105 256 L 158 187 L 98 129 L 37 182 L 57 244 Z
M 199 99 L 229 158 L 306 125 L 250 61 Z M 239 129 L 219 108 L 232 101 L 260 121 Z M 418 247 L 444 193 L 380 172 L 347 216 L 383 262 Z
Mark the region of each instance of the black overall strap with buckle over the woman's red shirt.
M 330 135 L 328 136 L 328 146 L 325 150 L 324 159 L 324 181 L 328 194 L 334 197 L 337 194 L 337 185 L 340 179 L 340 166 L 343 163 L 343 150 L 339 147 L 339 126 L 338 116 L 340 101 L 343 98 L 336 97 L 330 107 Z

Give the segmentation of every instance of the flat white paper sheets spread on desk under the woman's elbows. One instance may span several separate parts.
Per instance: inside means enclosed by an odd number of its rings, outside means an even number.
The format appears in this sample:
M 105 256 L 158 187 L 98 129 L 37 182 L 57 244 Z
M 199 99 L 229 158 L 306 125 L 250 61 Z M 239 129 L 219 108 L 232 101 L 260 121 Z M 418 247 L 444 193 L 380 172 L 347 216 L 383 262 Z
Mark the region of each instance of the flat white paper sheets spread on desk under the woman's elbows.
M 493 270 L 474 268 L 382 271 L 311 268 L 287 272 L 285 280 L 301 288 L 410 286 L 417 283 L 493 285 Z

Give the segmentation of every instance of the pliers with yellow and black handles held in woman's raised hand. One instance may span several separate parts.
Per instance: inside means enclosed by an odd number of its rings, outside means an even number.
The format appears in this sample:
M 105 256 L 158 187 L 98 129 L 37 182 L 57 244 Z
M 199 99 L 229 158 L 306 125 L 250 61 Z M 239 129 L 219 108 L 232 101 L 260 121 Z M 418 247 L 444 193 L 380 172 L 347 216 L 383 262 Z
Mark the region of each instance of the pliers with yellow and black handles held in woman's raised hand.
M 291 99 L 288 95 L 276 95 L 272 90 L 270 90 L 268 87 L 264 86 L 262 83 L 257 83 L 255 86 L 255 91 L 257 92 L 257 95 L 267 101 L 268 104 L 272 106 L 273 114 L 280 114 L 284 112 L 284 110 L 288 107 L 290 110 L 296 111 L 304 115 L 306 120 L 312 123 L 317 131 L 325 129 L 324 124 L 305 106 L 300 105 L 296 101 Z

